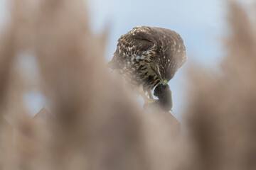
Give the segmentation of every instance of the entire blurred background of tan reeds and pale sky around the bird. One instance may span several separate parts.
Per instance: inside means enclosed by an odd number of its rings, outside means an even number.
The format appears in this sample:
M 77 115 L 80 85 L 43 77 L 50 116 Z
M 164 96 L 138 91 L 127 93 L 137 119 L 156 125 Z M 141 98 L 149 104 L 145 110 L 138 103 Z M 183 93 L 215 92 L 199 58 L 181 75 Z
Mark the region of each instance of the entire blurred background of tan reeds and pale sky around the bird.
M 255 1 L 84 2 L 0 1 L 0 169 L 256 169 Z M 170 81 L 182 135 L 107 73 L 141 25 L 184 39 Z

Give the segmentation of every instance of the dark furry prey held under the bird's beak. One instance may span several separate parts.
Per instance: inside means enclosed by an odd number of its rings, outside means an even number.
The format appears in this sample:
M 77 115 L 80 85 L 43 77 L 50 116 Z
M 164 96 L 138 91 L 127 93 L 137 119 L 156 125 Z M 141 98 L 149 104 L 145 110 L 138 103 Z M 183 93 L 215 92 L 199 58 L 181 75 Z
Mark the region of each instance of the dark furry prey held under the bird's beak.
M 164 111 L 171 111 L 173 106 L 171 98 L 171 89 L 168 84 L 159 84 L 154 90 L 154 96 L 158 97 L 159 100 L 156 103 L 164 109 Z

